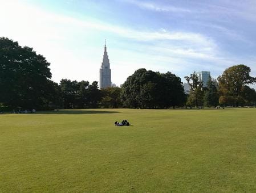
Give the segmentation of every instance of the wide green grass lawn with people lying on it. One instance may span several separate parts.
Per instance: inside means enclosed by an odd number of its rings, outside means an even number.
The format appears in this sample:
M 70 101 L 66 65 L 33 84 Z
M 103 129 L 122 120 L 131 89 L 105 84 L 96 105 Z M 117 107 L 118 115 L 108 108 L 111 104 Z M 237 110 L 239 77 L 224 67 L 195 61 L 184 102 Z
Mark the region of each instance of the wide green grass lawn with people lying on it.
M 14 191 L 255 192 L 256 109 L 0 115 L 0 192 Z

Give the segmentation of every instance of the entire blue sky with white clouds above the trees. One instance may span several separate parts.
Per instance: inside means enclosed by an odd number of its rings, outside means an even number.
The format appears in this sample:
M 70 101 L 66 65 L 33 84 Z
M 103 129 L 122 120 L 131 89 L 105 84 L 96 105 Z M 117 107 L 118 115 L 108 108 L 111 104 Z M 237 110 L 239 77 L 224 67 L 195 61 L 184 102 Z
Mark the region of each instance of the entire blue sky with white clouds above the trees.
M 214 78 L 236 64 L 256 76 L 256 1 L 0 0 L 0 36 L 33 47 L 52 79 L 99 81 L 107 39 L 112 82 L 136 69 Z

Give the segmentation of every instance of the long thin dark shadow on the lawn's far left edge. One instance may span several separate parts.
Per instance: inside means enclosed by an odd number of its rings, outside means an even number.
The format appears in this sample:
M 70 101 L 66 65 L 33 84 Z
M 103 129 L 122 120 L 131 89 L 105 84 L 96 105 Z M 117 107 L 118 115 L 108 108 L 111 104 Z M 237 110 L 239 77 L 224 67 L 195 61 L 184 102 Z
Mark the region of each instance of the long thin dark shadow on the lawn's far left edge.
M 82 114 L 115 114 L 119 111 L 99 111 L 99 110 L 59 110 L 59 111 L 38 111 L 34 115 L 82 115 Z M 33 115 L 33 114 L 30 114 Z

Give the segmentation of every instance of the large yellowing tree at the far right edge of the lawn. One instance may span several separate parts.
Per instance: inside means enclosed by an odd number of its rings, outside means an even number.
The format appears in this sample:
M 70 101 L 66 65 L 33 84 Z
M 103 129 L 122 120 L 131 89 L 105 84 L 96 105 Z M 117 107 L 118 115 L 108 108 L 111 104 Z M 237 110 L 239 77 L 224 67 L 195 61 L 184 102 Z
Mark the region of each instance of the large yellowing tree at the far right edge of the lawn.
M 245 104 L 245 86 L 256 81 L 256 78 L 250 76 L 250 72 L 249 66 L 239 64 L 227 68 L 218 77 L 220 104 L 233 106 Z

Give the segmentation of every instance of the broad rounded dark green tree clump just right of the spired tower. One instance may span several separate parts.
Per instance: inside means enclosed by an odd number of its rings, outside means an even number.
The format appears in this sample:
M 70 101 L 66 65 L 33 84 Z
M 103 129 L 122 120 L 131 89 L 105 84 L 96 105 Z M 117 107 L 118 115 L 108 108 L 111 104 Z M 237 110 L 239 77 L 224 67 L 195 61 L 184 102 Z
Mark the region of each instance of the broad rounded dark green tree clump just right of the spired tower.
M 129 108 L 168 108 L 184 103 L 185 94 L 176 75 L 139 69 L 124 82 L 121 100 Z

